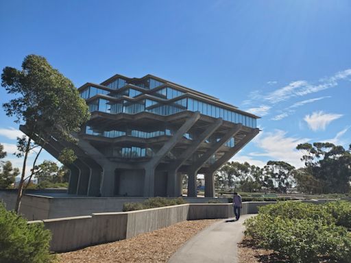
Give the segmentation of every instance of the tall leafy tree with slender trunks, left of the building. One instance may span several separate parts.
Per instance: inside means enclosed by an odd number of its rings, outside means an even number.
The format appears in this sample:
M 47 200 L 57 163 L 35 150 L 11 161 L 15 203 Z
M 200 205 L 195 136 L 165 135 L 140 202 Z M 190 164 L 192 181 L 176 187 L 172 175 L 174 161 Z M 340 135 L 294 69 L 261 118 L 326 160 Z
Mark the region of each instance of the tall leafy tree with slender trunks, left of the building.
M 18 212 L 29 151 L 39 147 L 32 168 L 33 175 L 35 162 L 47 141 L 55 138 L 73 142 L 71 133 L 80 131 L 90 113 L 71 80 L 39 55 L 27 55 L 21 70 L 10 66 L 3 68 L 1 86 L 14 97 L 3 103 L 6 115 L 16 118 L 16 123 L 25 125 L 28 136 L 19 138 L 17 143 L 18 156 L 24 156 L 16 203 Z M 66 150 L 66 153 L 70 152 Z

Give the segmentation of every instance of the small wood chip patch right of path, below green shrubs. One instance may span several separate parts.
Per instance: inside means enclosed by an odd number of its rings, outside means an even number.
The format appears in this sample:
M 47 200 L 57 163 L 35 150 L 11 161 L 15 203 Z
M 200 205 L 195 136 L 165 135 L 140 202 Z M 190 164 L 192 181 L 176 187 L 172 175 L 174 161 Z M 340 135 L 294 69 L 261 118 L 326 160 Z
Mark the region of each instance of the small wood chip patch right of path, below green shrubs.
M 287 263 L 278 253 L 272 250 L 258 248 L 254 240 L 244 237 L 241 243 L 238 244 L 238 259 L 239 263 Z

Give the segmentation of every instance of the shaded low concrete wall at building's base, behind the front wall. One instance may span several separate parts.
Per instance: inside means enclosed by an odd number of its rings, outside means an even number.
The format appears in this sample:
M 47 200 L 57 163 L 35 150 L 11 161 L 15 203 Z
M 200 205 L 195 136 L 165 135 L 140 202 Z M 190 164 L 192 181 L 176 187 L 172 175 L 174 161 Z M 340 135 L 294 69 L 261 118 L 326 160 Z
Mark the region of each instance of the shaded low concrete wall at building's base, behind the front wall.
M 149 199 L 148 197 L 77 197 L 66 195 L 62 190 L 30 192 L 23 195 L 20 209 L 20 213 L 30 221 L 122 212 L 124 203 L 141 203 Z M 14 210 L 16 190 L 0 190 L 0 200 L 6 204 L 6 209 Z M 208 203 L 210 200 L 228 203 L 226 198 L 184 197 L 184 200 L 189 203 Z

